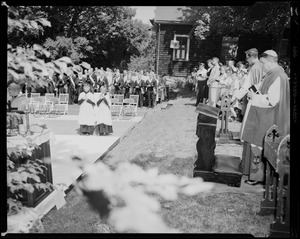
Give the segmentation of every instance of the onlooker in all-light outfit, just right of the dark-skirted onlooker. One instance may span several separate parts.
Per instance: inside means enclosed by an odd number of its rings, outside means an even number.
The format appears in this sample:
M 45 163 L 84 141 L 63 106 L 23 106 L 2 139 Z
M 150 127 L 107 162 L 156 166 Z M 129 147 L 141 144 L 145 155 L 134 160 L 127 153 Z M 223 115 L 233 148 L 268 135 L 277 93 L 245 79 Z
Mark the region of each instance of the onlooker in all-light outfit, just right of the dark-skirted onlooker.
M 216 107 L 217 100 L 219 98 L 219 76 L 220 76 L 220 65 L 219 58 L 213 57 L 212 59 L 213 68 L 209 75 L 207 85 L 209 86 L 209 105 Z

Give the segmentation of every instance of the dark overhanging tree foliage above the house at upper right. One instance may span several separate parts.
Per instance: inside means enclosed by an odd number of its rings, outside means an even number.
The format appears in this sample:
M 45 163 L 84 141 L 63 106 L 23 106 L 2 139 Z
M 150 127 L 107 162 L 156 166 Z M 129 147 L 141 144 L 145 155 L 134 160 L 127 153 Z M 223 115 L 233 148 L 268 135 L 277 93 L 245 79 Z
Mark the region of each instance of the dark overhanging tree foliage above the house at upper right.
M 195 36 L 239 35 L 241 33 L 281 36 L 290 24 L 289 2 L 254 2 L 245 6 L 189 6 L 184 18 L 195 21 Z M 210 21 L 207 21 L 209 16 Z

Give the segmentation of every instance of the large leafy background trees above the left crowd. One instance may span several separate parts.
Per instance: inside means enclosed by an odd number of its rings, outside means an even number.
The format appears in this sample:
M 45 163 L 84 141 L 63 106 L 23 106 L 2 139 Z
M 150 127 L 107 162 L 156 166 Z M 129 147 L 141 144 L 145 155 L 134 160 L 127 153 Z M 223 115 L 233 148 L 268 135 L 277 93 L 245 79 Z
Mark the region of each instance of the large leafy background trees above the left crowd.
M 43 45 L 49 38 L 57 44 L 63 41 L 63 37 L 72 39 L 76 47 L 73 48 L 71 40 L 66 40 L 68 55 L 65 56 L 76 63 L 83 57 L 85 61 L 98 68 L 100 66 L 127 68 L 130 57 L 140 56 L 144 42 L 148 42 L 151 38 L 148 34 L 149 26 L 132 20 L 135 10 L 127 6 L 18 6 L 16 9 L 23 17 L 32 18 L 38 15 L 51 22 L 51 27 L 46 27 L 43 33 L 31 38 L 35 41 L 26 42 Z M 9 34 L 9 42 L 19 43 L 20 39 L 15 36 L 16 34 Z M 58 41 L 57 37 L 61 40 Z M 86 42 L 75 43 L 78 37 L 86 38 Z M 49 44 L 49 40 L 47 41 Z M 80 46 L 80 49 L 77 46 Z M 52 53 L 52 50 L 50 52 Z M 54 51 L 53 53 L 56 54 Z M 56 58 L 53 56 L 52 59 Z

